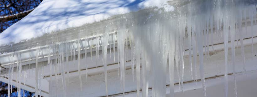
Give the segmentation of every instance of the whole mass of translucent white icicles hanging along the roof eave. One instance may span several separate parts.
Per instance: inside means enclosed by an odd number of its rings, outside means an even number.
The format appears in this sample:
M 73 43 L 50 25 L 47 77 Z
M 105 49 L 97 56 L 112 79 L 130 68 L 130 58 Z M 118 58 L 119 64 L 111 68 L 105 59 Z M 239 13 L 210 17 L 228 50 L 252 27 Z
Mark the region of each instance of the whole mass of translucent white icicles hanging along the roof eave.
M 197 4 L 201 3 L 196 7 Z M 104 63 L 104 75 L 106 83 L 106 95 L 108 95 L 107 89 L 107 52 L 108 45 L 113 48 L 114 57 L 115 51 L 118 51 L 118 69 L 120 71 L 121 91 L 125 93 L 125 70 L 126 70 L 126 54 L 132 56 L 131 69 L 134 75 L 136 71 L 137 82 L 137 96 L 140 96 L 140 89 L 142 89 L 142 97 L 148 96 L 149 84 L 152 86 L 153 97 L 165 97 L 166 95 L 166 72 L 169 72 L 169 86 L 170 96 L 174 96 L 174 69 L 179 78 L 180 89 L 183 90 L 184 82 L 184 58 L 185 49 L 184 42 L 188 43 L 189 51 L 189 65 L 191 66 L 192 80 L 197 81 L 197 66 L 200 67 L 200 78 L 203 87 L 203 95 L 206 94 L 205 77 L 204 77 L 204 55 L 209 55 L 209 49 L 213 49 L 213 36 L 219 35 L 224 39 L 225 50 L 225 97 L 228 96 L 228 42 L 231 42 L 232 51 L 232 64 L 233 74 L 235 79 L 235 40 L 240 40 L 242 65 L 245 67 L 244 59 L 244 43 L 242 35 L 242 27 L 247 26 L 247 20 L 250 21 L 250 31 L 252 35 L 252 52 L 253 52 L 253 21 L 255 21 L 256 7 L 255 5 L 241 4 L 240 1 L 233 0 L 206 0 L 198 2 L 189 2 L 186 7 L 182 7 L 181 10 L 175 12 L 157 11 L 145 19 L 135 19 L 132 21 L 132 25 L 127 25 L 126 16 L 122 16 L 122 21 L 118 30 L 110 32 L 108 25 L 103 35 L 98 36 L 96 39 L 78 39 L 73 42 L 66 42 L 55 44 L 48 48 L 48 67 L 50 69 L 50 80 L 52 75 L 55 75 L 55 83 L 58 84 L 57 76 L 62 76 L 63 93 L 66 96 L 66 90 L 69 87 L 69 65 L 68 61 L 73 61 L 75 64 L 75 58 L 78 61 L 78 73 L 80 84 L 81 82 L 81 51 L 87 52 L 90 49 L 90 55 L 92 58 L 92 49 L 96 49 L 96 58 L 99 59 L 99 47 L 102 47 L 103 63 Z M 108 30 L 107 30 L 108 29 Z M 244 31 L 244 32 L 247 32 Z M 230 40 L 229 40 L 230 34 Z M 237 37 L 235 37 L 237 36 Z M 186 39 L 187 38 L 187 39 Z M 83 43 L 84 42 L 84 43 Z M 83 46 L 85 44 L 87 46 Z M 92 45 L 96 44 L 96 45 Z M 110 52 L 111 52 L 110 49 Z M 116 49 L 116 50 L 115 50 Z M 126 53 L 127 50 L 131 50 L 131 53 Z M 75 52 L 77 51 L 77 57 Z M 42 79 L 42 66 L 38 64 L 38 56 L 41 55 L 42 50 L 37 49 L 35 58 L 35 94 L 36 97 L 41 93 L 41 79 Z M 53 56 L 53 58 L 50 58 Z M 84 58 L 87 58 L 85 53 Z M 197 60 L 199 56 L 199 60 Z M 19 54 L 14 54 L 10 58 L 17 57 Z M 115 58 L 114 58 L 115 59 Z M 117 60 L 116 60 L 117 61 Z M 21 60 L 17 62 L 18 75 L 22 74 L 22 68 L 20 65 Z M 199 63 L 199 65 L 197 65 Z M 168 70 L 166 70 L 168 64 Z M 87 66 L 86 66 L 87 67 Z M 175 68 L 174 68 L 175 67 Z M 13 65 L 9 68 L 9 81 L 8 91 L 12 86 L 11 80 L 14 79 Z M 60 69 L 60 70 L 59 70 Z M 244 68 L 245 70 L 245 68 Z M 52 72 L 54 71 L 54 72 Z M 58 72 L 60 71 L 60 72 Z M 86 68 L 87 71 L 87 68 Z M 60 74 L 59 74 L 60 73 Z M 27 77 L 27 71 L 24 70 L 24 77 Z M 29 73 L 30 74 L 30 73 Z M 149 76 L 150 75 L 150 76 Z M 20 96 L 20 80 L 22 76 L 16 76 L 18 81 L 18 96 Z M 141 80 L 140 80 L 141 79 Z M 152 80 L 152 83 L 149 83 Z M 237 96 L 236 80 L 235 82 L 235 96 Z M 140 87 L 140 83 L 143 83 Z M 50 85 L 51 86 L 51 85 Z M 57 89 L 57 86 L 56 86 Z M 10 93 L 10 92 L 8 92 Z M 57 96 L 57 95 L 56 95 Z

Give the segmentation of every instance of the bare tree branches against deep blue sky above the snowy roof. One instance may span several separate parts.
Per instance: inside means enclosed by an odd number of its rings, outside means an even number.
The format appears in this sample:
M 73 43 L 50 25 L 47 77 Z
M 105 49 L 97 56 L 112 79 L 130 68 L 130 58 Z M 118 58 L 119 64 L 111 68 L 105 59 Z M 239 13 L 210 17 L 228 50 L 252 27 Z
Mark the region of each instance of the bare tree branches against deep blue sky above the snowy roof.
M 0 33 L 21 20 L 43 0 L 0 0 Z

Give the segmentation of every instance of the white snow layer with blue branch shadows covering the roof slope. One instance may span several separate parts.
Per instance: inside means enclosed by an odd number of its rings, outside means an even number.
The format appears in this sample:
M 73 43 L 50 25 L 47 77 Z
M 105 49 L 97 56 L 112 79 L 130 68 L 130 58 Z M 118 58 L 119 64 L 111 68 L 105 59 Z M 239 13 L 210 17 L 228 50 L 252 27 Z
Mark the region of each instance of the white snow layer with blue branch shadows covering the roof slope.
M 113 15 L 162 7 L 168 0 L 44 0 L 28 16 L 0 34 L 0 45 L 78 27 Z M 172 8 L 172 7 L 171 7 Z M 166 10 L 166 9 L 165 9 Z M 170 11 L 170 9 L 168 9 Z

